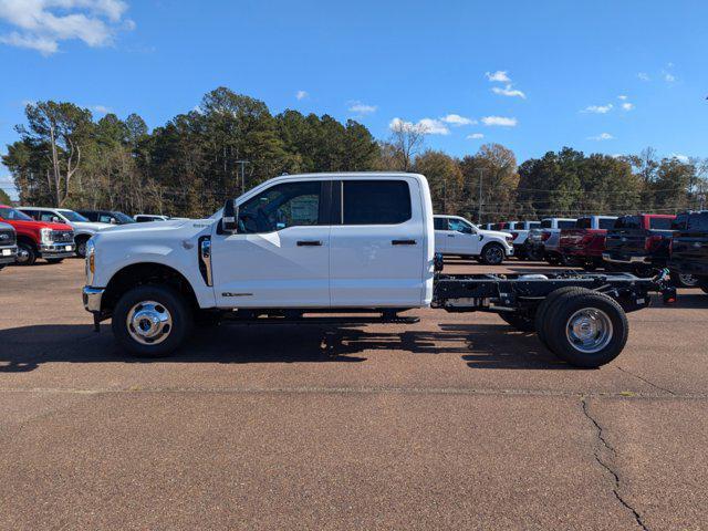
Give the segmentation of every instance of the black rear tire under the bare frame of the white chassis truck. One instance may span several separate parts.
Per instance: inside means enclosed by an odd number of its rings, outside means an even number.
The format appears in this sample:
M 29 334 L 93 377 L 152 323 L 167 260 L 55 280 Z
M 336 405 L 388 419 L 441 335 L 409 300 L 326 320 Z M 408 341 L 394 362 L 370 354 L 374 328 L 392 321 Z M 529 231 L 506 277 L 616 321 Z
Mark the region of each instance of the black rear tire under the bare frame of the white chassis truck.
M 576 367 L 596 368 L 620 355 L 627 342 L 629 324 L 624 310 L 614 299 L 586 291 L 559 296 L 555 309 L 546 315 L 546 340 L 559 358 Z M 594 313 L 595 316 L 583 320 L 584 312 Z M 572 319 L 577 319 L 579 329 L 583 327 L 583 321 L 594 323 L 597 327 L 594 336 L 587 337 L 589 344 L 581 346 L 580 341 L 573 341 L 573 330 L 569 330 Z M 587 325 L 584 327 L 587 329 Z M 580 334 L 583 332 L 580 330 Z M 590 332 L 593 332 L 592 327 Z

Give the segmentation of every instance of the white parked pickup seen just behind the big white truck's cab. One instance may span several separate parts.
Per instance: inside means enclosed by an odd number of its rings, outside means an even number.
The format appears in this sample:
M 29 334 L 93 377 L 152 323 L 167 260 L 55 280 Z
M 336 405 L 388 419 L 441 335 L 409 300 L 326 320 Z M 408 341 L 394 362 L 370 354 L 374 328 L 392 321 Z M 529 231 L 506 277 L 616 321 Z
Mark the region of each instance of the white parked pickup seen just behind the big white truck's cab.
M 473 257 L 488 266 L 497 266 L 513 256 L 511 235 L 483 230 L 459 216 L 435 216 L 435 252 Z

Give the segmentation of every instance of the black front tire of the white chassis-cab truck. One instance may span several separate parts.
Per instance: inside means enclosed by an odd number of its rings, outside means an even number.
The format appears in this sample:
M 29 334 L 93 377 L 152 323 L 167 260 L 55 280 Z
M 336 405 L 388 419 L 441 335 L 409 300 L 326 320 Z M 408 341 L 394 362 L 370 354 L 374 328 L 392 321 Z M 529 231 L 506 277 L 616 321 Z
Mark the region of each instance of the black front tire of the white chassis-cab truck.
M 155 308 L 158 314 L 167 313 L 170 317 L 169 329 L 162 333 L 154 344 L 140 343 L 134 339 L 134 335 L 138 334 L 132 332 L 127 323 L 128 313 L 136 308 L 140 311 L 139 304 L 148 301 L 157 303 Z M 146 321 L 149 325 L 150 321 Z M 113 310 L 111 326 L 118 344 L 131 354 L 138 357 L 164 357 L 177 350 L 189 335 L 194 319 L 185 298 L 171 288 L 138 285 L 121 296 Z M 164 325 L 162 330 L 164 331 Z

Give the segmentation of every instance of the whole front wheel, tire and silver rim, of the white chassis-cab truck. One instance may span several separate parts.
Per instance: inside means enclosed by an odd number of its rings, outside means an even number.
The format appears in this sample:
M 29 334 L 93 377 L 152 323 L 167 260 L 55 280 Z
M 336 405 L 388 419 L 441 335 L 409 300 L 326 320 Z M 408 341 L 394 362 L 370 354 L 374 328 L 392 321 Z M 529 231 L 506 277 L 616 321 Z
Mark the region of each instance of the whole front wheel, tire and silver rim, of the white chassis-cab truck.
M 139 285 L 115 305 L 113 335 L 118 344 L 139 357 L 163 357 L 185 341 L 192 315 L 184 296 L 166 285 Z

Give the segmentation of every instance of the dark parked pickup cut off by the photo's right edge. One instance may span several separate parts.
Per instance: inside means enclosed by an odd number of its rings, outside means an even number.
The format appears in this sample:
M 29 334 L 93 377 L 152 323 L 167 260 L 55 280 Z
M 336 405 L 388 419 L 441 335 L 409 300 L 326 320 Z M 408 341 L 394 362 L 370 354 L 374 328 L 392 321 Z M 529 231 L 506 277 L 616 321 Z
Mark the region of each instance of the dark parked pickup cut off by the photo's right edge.
M 708 293 L 708 210 L 679 214 L 671 228 L 671 273 L 695 277 Z

